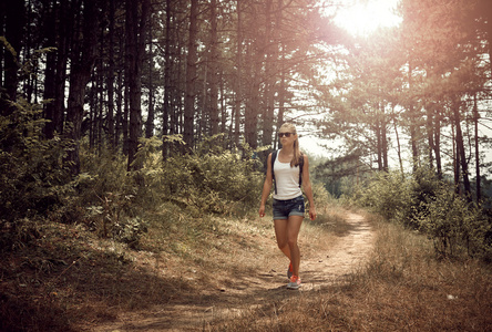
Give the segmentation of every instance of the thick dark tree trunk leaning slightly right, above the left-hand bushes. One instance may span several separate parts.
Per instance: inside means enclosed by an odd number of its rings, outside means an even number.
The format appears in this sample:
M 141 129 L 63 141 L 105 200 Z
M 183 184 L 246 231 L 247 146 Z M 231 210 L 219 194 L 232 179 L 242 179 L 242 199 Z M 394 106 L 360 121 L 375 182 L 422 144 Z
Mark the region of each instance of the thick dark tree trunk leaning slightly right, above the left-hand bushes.
M 70 90 L 66 107 L 66 121 L 71 124 L 68 137 L 73 139 L 74 148 L 68 152 L 68 160 L 71 162 L 72 174 L 80 173 L 80 139 L 82 138 L 82 121 L 84 115 L 85 87 L 91 80 L 96 53 L 96 32 L 99 15 L 96 11 L 98 0 L 83 1 L 82 34 L 75 33 L 72 39 Z M 80 8 L 74 8 L 79 11 Z M 78 22 L 74 22 L 78 24 Z M 82 40 L 81 40 L 82 39 Z

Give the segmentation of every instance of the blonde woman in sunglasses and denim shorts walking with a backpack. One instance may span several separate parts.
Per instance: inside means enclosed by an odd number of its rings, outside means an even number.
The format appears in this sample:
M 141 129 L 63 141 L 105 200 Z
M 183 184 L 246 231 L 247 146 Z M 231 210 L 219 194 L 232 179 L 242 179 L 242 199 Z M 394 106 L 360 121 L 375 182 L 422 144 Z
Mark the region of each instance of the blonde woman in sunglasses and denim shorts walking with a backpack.
M 281 125 L 278 137 L 280 137 L 281 149 L 268 155 L 259 216 L 265 216 L 265 204 L 270 194 L 275 177 L 273 204 L 275 236 L 278 248 L 290 260 L 287 270 L 287 277 L 289 278 L 287 288 L 298 289 L 300 287 L 300 251 L 297 245 L 297 236 L 299 235 L 305 214 L 301 185 L 309 200 L 309 217 L 311 220 L 316 218 L 316 208 L 312 199 L 311 183 L 309 181 L 309 162 L 308 157 L 299 151 L 296 127 L 287 123 Z M 273 157 L 275 159 L 274 166 L 271 166 Z M 271 169 L 271 167 L 274 168 Z

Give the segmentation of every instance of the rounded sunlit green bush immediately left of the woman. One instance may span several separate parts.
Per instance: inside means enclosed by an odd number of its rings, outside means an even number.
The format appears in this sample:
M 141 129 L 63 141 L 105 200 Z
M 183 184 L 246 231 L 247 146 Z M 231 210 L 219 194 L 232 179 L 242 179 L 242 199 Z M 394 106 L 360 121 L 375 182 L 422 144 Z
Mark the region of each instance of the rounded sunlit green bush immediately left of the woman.
M 206 139 L 194 154 L 173 156 L 163 162 L 158 180 L 168 200 L 202 212 L 242 214 L 254 206 L 262 190 L 264 175 L 253 151 L 232 152 Z

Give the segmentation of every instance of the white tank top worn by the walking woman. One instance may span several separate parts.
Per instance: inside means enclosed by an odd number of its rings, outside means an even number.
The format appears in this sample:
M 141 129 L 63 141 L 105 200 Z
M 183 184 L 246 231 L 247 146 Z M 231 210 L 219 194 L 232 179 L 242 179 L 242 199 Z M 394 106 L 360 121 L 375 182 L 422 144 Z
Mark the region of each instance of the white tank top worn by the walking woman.
M 303 195 L 299 188 L 299 166 L 290 167 L 290 162 L 280 163 L 277 156 L 274 163 L 274 173 L 277 183 L 275 199 L 287 200 Z

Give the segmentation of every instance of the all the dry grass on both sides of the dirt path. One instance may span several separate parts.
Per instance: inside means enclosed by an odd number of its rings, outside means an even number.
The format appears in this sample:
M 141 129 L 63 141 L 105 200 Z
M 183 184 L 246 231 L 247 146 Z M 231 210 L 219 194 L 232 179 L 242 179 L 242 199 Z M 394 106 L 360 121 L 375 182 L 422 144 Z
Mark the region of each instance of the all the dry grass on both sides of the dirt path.
M 306 222 L 303 252 L 329 251 L 342 241 L 348 231 L 344 214 L 330 208 L 320 211 L 316 222 Z M 165 205 L 147 220 L 148 234 L 136 249 L 100 239 L 80 226 L 45 224 L 30 241 L 4 251 L 0 330 L 94 331 L 122 314 L 137 321 L 157 312 L 163 315 L 172 305 L 230 307 L 230 315 L 224 310 L 216 319 L 199 319 L 196 330 L 206 331 L 486 331 L 492 326 L 490 267 L 437 260 L 426 238 L 393 225 L 371 221 L 377 234 L 373 255 L 344 282 L 312 291 L 259 290 L 249 295 L 244 288 L 240 307 L 248 309 L 237 311 L 232 310 L 238 301 L 237 281 L 250 284 L 252 274 L 269 278 L 269 269 L 286 268 L 270 219 L 191 218 Z

